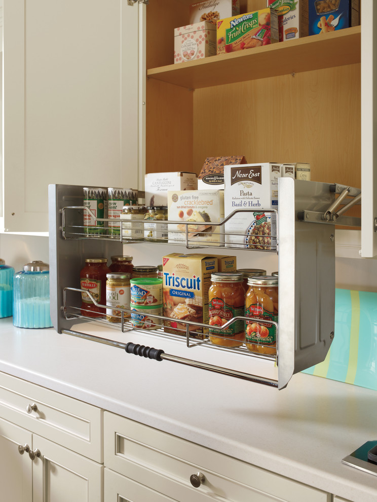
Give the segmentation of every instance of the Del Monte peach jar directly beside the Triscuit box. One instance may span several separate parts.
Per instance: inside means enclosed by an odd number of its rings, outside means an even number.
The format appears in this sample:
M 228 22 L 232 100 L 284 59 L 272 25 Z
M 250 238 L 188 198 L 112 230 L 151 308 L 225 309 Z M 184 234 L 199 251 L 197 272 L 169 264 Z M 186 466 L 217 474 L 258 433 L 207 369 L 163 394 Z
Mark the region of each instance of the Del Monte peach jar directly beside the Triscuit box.
M 208 292 L 209 325 L 223 326 L 238 315 L 244 315 L 245 290 L 241 272 L 217 272 L 211 274 Z M 209 339 L 215 345 L 239 347 L 245 341 L 245 323 L 237 320 L 225 330 L 209 328 Z

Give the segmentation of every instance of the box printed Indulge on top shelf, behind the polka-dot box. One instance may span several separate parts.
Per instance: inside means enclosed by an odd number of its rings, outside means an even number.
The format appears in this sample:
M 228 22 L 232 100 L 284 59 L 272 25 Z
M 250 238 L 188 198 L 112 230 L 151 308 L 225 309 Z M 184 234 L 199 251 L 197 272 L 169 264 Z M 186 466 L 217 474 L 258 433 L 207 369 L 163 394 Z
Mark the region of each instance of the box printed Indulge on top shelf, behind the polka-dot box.
M 190 24 L 208 21 L 216 25 L 219 19 L 237 16 L 240 0 L 200 0 L 190 6 Z

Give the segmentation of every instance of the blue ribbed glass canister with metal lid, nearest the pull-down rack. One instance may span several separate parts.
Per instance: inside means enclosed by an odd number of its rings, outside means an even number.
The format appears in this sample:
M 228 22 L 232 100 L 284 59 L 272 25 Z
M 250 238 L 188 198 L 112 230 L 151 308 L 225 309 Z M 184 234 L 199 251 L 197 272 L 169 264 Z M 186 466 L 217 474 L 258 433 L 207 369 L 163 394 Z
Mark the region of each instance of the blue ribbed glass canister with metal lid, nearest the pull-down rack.
M 19 328 L 50 328 L 49 265 L 33 261 L 13 279 L 13 325 Z

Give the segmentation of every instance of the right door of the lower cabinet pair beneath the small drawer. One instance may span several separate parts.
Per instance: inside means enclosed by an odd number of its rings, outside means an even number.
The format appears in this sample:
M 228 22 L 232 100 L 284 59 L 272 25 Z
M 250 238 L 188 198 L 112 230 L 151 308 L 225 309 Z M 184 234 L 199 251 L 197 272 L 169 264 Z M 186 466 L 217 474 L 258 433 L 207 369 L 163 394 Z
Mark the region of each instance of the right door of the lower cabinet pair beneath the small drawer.
M 33 434 L 33 502 L 103 502 L 103 466 Z

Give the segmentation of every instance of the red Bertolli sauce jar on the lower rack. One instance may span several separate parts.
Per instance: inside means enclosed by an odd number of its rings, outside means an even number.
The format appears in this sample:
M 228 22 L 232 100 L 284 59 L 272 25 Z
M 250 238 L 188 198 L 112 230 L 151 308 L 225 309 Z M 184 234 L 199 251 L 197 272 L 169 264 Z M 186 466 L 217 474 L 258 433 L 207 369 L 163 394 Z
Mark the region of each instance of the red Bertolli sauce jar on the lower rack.
M 88 290 L 97 303 L 106 304 L 106 274 L 110 269 L 106 265 L 107 258 L 87 258 L 85 267 L 80 272 L 82 290 Z M 104 317 L 106 309 L 94 305 L 89 295 L 81 293 L 81 313 L 86 317 Z

